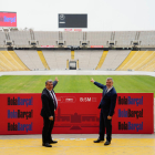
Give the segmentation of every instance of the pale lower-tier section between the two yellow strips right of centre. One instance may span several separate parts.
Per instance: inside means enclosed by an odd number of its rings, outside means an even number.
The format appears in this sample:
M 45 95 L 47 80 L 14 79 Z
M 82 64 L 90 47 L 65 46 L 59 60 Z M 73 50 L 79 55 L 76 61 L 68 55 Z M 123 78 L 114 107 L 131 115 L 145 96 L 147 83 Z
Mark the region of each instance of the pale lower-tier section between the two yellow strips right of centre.
M 130 52 L 130 50 L 110 50 L 100 70 L 114 71 Z

